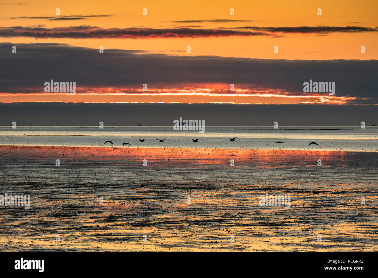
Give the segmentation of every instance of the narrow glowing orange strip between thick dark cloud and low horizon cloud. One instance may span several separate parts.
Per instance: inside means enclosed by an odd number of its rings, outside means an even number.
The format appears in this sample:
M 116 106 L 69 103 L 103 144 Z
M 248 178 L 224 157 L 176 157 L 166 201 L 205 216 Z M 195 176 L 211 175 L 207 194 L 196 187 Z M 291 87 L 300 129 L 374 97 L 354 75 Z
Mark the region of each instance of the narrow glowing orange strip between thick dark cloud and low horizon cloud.
M 198 89 L 198 91 L 202 91 Z M 296 96 L 268 93 L 205 93 L 167 92 L 148 93 L 29 93 L 0 94 L 0 102 L 63 102 L 63 103 L 234 103 L 234 104 L 346 104 L 355 97 Z

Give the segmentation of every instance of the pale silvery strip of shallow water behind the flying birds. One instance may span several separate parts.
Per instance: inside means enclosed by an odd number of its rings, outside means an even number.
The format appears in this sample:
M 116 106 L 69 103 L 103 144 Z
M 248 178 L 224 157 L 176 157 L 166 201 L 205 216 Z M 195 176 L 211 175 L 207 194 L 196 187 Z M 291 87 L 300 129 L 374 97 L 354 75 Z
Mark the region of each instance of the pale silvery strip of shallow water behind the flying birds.
M 237 137 L 234 142 L 229 138 Z M 145 139 L 140 142 L 139 139 Z M 156 139 L 166 139 L 159 142 Z M 192 139 L 199 139 L 194 143 Z M 131 148 L 221 148 L 288 149 L 324 151 L 378 151 L 378 127 L 205 127 L 173 130 L 172 126 L 151 127 L 0 127 L 0 144 L 27 146 L 111 146 Z M 114 144 L 106 143 L 110 140 Z M 284 143 L 275 143 L 283 141 Z M 319 144 L 308 145 L 315 141 Z M 130 148 L 126 145 L 125 148 Z

